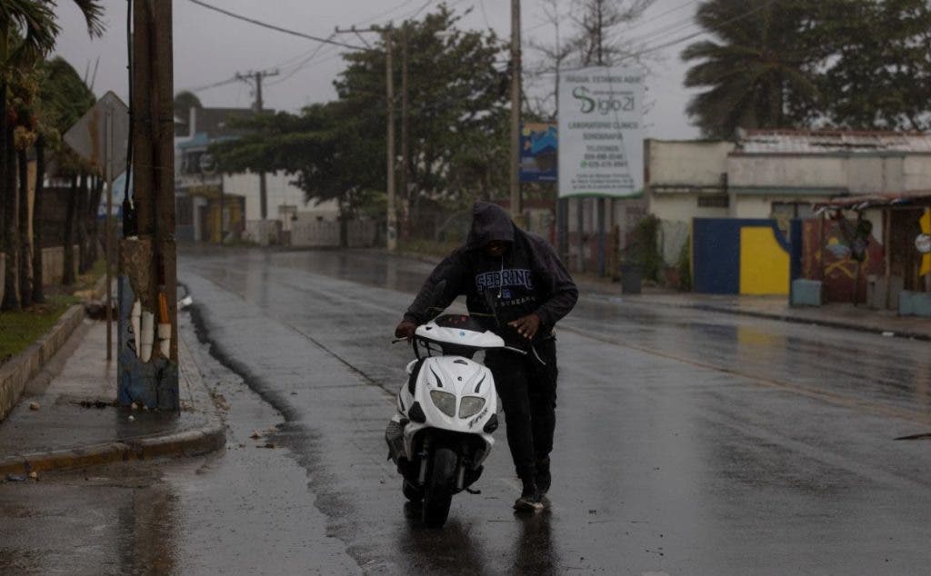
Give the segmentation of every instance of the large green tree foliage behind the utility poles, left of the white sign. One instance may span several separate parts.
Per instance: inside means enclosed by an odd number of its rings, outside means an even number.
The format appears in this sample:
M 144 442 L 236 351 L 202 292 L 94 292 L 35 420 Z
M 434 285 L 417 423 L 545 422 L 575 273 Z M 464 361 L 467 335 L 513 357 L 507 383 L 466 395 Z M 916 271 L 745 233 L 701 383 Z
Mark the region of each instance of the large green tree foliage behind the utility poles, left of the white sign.
M 506 178 L 507 76 L 493 33 L 464 32 L 445 5 L 390 34 L 394 54 L 395 150 L 400 169 L 403 45 L 409 55 L 409 181 L 415 197 L 471 202 Z M 308 200 L 337 199 L 353 211 L 385 192 L 386 38 L 345 54 L 337 100 L 301 114 L 252 114 L 250 135 L 211 147 L 226 172 L 284 170 Z M 399 194 L 403 199 L 403 194 Z

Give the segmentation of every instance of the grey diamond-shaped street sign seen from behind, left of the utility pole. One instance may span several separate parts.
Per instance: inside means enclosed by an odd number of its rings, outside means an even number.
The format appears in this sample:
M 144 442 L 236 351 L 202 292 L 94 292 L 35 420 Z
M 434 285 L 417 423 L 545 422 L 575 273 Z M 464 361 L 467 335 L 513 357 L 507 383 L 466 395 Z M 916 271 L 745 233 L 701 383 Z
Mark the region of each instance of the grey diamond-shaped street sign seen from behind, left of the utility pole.
M 108 134 L 111 135 L 109 140 Z M 123 171 L 120 168 L 126 164 L 128 138 L 129 109 L 112 91 L 101 96 L 64 134 L 65 143 L 87 160 L 104 179 L 115 178 L 116 171 Z M 110 154 L 107 154 L 107 148 Z M 109 174 L 106 171 L 108 160 L 111 163 Z

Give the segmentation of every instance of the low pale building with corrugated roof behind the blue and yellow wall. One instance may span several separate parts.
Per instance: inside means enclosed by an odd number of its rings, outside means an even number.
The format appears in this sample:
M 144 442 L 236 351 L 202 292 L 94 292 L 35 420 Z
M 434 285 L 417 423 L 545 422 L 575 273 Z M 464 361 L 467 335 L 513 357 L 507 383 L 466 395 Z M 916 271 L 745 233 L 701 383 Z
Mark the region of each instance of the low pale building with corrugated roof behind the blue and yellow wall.
M 772 218 L 788 232 L 792 218 L 831 198 L 931 188 L 931 134 L 758 129 L 735 142 L 644 146 L 648 209 L 663 222 L 668 265 L 693 218 Z

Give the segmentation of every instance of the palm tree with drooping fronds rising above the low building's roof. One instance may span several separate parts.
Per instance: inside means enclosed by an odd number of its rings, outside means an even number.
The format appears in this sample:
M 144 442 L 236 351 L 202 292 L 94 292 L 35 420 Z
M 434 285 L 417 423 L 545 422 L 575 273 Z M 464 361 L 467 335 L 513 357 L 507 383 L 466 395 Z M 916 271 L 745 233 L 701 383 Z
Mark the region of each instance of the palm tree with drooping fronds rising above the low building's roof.
M 837 3 L 843 0 L 836 0 Z M 820 16 L 834 2 L 707 0 L 696 20 L 717 39 L 686 47 L 696 63 L 686 87 L 705 87 L 687 112 L 708 137 L 737 127 L 793 127 L 816 114 L 815 67 L 828 53 L 817 37 Z

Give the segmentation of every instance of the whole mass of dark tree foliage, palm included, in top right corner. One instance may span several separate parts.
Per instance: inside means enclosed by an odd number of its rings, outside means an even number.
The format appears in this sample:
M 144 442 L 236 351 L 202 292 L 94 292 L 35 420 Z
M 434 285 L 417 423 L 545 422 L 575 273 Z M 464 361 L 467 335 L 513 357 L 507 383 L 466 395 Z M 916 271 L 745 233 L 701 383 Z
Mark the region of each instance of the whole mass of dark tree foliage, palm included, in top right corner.
M 931 7 L 924 0 L 706 0 L 713 34 L 686 47 L 687 112 L 706 136 L 735 128 L 924 129 Z

